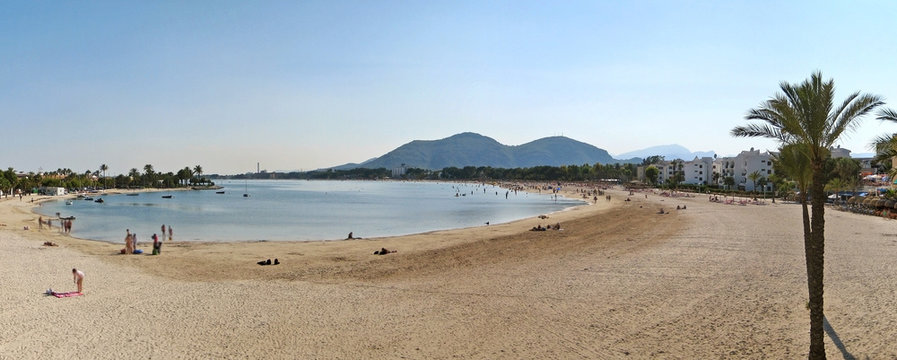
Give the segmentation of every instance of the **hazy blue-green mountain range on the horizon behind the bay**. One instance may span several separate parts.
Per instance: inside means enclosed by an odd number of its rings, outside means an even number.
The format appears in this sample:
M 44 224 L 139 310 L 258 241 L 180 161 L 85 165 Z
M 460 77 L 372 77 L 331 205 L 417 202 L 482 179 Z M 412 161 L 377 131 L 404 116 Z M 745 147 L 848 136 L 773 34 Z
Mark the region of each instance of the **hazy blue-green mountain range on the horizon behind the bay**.
M 611 156 L 606 150 L 564 136 L 541 138 L 523 145 L 504 145 L 487 136 L 466 132 L 439 140 L 414 140 L 383 156 L 360 164 L 345 164 L 334 170 L 353 168 L 409 168 L 442 169 L 446 167 L 491 166 L 522 168 L 561 166 L 571 164 L 640 163 L 652 155 L 667 160 L 694 159 L 713 156 L 713 152 L 691 153 L 680 145 L 665 145 Z M 622 159 L 620 159 L 622 158 Z

